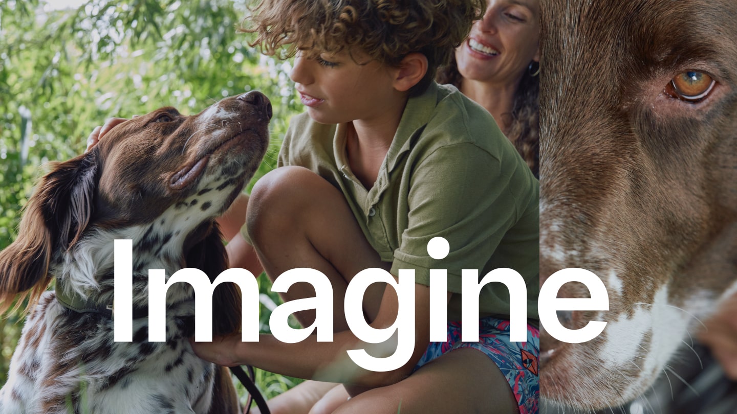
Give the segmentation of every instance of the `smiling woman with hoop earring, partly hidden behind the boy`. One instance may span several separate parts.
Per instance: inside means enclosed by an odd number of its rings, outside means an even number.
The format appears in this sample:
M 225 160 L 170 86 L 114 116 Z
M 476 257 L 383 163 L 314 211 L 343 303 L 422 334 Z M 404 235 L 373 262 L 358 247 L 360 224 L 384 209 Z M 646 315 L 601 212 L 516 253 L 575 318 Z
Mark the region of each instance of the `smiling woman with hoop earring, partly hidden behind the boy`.
M 539 176 L 539 1 L 490 0 L 438 83 L 486 108 Z

